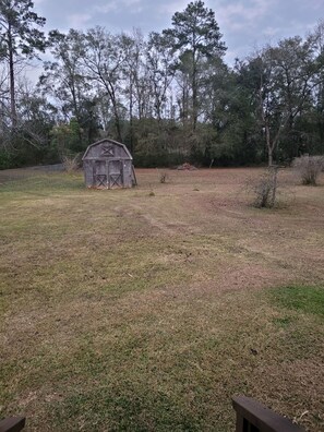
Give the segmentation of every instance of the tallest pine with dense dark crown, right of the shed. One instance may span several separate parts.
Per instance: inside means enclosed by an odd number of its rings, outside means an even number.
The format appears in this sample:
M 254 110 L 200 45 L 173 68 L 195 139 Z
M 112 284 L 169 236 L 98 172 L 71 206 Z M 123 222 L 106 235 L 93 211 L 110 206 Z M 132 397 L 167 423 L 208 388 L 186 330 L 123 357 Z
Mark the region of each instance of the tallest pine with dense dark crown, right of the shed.
M 173 49 L 178 51 L 178 69 L 184 71 L 190 80 L 191 118 L 193 131 L 200 116 L 200 79 L 205 62 L 221 58 L 226 51 L 220 41 L 221 34 L 212 9 L 204 7 L 199 0 L 188 4 L 183 12 L 176 12 L 172 16 L 172 28 L 165 29 L 165 36 L 172 37 Z

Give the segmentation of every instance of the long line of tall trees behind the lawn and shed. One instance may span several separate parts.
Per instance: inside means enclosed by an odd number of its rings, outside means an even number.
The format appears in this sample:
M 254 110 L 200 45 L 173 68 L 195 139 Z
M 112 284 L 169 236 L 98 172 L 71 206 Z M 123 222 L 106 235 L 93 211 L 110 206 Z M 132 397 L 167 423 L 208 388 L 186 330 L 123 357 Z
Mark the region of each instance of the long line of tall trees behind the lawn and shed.
M 202 1 L 144 37 L 41 32 L 29 0 L 0 2 L 0 168 L 49 164 L 109 136 L 137 166 L 289 163 L 324 153 L 324 22 L 233 68 Z M 50 52 L 36 86 L 24 65 Z

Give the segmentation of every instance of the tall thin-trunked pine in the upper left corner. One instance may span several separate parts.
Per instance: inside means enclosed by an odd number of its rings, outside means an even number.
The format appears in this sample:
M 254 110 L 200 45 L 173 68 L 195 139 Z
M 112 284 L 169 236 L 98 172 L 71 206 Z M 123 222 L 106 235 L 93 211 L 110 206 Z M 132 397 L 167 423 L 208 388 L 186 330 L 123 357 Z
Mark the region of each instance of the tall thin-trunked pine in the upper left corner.
M 15 60 L 32 59 L 46 46 L 44 33 L 36 28 L 44 26 L 46 19 L 33 12 L 33 8 L 31 0 L 0 2 L 0 51 L 9 67 L 12 125 L 16 124 Z

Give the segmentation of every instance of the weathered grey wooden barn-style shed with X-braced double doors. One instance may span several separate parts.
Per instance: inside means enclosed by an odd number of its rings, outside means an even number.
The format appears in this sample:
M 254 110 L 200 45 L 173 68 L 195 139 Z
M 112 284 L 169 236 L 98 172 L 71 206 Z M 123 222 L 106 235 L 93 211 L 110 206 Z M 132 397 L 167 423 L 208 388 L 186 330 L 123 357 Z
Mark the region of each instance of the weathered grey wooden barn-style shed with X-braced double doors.
M 105 139 L 89 145 L 82 158 L 85 185 L 96 189 L 136 184 L 133 158 L 124 144 Z

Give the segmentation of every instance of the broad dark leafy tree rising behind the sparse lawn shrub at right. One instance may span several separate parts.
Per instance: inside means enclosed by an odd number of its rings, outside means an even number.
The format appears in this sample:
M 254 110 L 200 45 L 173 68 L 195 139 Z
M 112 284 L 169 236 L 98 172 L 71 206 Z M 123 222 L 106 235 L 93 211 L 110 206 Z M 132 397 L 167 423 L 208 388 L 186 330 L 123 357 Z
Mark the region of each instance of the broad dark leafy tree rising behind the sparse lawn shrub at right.
M 288 147 L 285 155 L 291 159 L 298 153 L 296 120 L 311 106 L 316 86 L 311 39 L 296 36 L 266 46 L 243 69 L 253 87 L 255 118 L 265 136 L 268 165 L 284 142 Z

